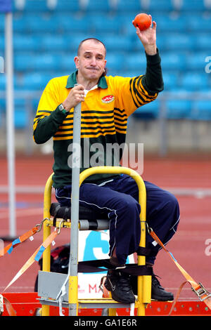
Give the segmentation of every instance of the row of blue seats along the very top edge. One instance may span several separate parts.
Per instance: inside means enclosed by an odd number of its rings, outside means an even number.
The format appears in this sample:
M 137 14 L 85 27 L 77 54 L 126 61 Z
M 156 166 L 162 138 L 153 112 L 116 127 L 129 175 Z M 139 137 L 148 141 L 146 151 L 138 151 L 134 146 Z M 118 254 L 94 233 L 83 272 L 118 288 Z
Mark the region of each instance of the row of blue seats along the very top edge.
M 210 10 L 209 0 L 157 0 L 141 1 L 141 0 L 58 0 L 58 1 L 46 1 L 46 0 L 25 0 L 23 3 L 18 1 L 14 3 L 14 10 L 16 11 L 80 11 L 85 10 L 87 12 L 93 11 L 124 11 L 134 10 L 143 11 L 206 11 Z

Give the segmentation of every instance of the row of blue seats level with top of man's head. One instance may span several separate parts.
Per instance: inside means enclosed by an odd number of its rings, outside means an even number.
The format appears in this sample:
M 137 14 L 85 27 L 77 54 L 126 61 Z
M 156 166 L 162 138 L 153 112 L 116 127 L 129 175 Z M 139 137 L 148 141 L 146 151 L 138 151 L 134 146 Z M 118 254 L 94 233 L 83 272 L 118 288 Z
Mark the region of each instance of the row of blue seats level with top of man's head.
M 79 42 L 86 37 L 97 37 L 106 44 L 108 51 L 143 51 L 143 46 L 136 35 L 118 36 L 117 34 L 14 34 L 13 49 L 18 51 L 52 52 L 52 51 L 77 51 Z M 158 34 L 158 48 L 161 51 L 210 51 L 210 33 L 204 34 Z M 5 48 L 4 35 L 0 35 L 1 52 Z

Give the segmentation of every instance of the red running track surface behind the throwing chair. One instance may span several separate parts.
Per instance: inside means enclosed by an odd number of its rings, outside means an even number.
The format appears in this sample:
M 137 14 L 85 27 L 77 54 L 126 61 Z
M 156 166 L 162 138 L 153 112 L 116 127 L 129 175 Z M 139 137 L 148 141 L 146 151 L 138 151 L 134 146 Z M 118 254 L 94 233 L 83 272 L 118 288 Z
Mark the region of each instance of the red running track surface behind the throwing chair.
M 17 186 L 44 187 L 46 179 L 52 172 L 51 157 L 17 157 L 15 166 L 15 182 Z M 0 187 L 7 185 L 7 164 L 5 158 L 0 158 Z M 211 158 L 208 157 L 170 157 L 160 159 L 146 157 L 144 160 L 143 179 L 149 180 L 164 188 L 184 189 L 192 192 L 196 189 L 211 189 Z M 182 192 L 183 190 L 181 190 Z M 180 265 L 195 279 L 211 291 L 210 254 L 211 232 L 209 196 L 183 196 L 177 194 L 181 210 L 179 229 L 172 241 L 167 245 Z M 43 194 L 17 194 L 17 203 L 22 207 L 17 209 L 17 235 L 22 235 L 42 220 Z M 0 236 L 8 235 L 8 209 L 6 193 L 0 194 Z M 24 207 L 24 203 L 30 206 Z M 70 232 L 64 230 L 63 235 L 56 239 L 57 246 L 69 242 Z M 210 241 L 209 241 L 210 239 Z M 42 234 L 37 233 L 34 241 L 20 244 L 11 255 L 0 258 L 0 292 L 20 270 L 23 263 L 41 244 Z M 207 244 L 206 244 L 207 243 Z M 209 249 L 210 244 L 210 249 Z M 34 280 L 39 267 L 34 263 L 9 289 L 8 292 L 32 292 Z M 184 282 L 177 267 L 165 251 L 160 251 L 155 264 L 155 274 L 161 277 L 160 282 L 166 289 L 175 294 L 180 284 Z M 196 300 L 189 284 L 181 292 L 181 299 Z

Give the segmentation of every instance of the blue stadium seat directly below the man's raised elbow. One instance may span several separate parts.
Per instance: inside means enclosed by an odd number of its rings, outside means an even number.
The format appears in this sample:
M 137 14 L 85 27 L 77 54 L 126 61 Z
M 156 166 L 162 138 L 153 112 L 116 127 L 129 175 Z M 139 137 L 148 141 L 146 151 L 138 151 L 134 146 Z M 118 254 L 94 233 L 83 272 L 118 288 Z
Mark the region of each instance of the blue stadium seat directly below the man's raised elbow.
M 151 103 L 147 103 L 146 105 L 143 105 L 142 107 L 139 107 L 134 114 L 133 117 L 139 118 L 139 119 L 156 119 L 159 115 L 159 109 L 160 109 L 160 101 L 155 100 Z

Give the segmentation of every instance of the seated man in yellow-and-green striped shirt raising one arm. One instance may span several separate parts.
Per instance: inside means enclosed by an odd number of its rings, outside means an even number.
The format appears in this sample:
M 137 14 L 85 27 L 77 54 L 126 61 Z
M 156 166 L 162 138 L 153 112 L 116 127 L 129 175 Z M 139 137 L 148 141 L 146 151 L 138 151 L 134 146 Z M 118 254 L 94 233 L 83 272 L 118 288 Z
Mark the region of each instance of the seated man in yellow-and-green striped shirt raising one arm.
M 81 147 L 83 171 L 91 164 L 96 143 L 121 145 L 127 133 L 127 118 L 138 107 L 157 98 L 163 89 L 160 55 L 156 47 L 156 23 L 145 31 L 136 28 L 146 52 L 146 74 L 134 78 L 106 76 L 106 47 L 97 39 L 85 39 L 79 44 L 75 66 L 70 76 L 51 79 L 41 95 L 34 119 L 34 140 L 45 143 L 53 136 L 53 187 L 62 206 L 71 204 L 72 131 L 74 107 L 82 103 Z M 137 68 L 139 71 L 139 68 Z M 77 86 L 75 86 L 77 84 Z M 89 164 L 84 154 L 90 150 Z M 105 160 L 106 151 L 99 155 Z M 111 154 L 111 161 L 116 161 Z M 116 162 L 115 162 L 116 165 Z M 94 166 L 97 166 L 95 164 Z M 179 223 L 177 199 L 152 183 L 145 182 L 147 193 L 146 220 L 166 244 Z M 137 251 L 140 241 L 140 205 L 135 181 L 126 175 L 94 175 L 80 187 L 79 203 L 92 210 L 107 211 L 110 218 L 110 263 L 122 266 L 127 256 Z M 159 247 L 146 235 L 146 247 L 151 249 L 146 263 L 152 267 Z M 106 288 L 113 299 L 133 303 L 130 279 L 117 270 L 108 272 Z M 152 298 L 172 300 L 172 293 L 160 286 L 153 275 Z

